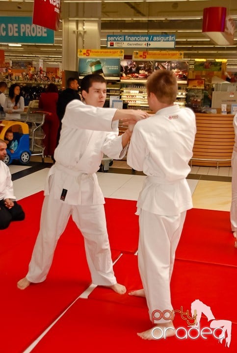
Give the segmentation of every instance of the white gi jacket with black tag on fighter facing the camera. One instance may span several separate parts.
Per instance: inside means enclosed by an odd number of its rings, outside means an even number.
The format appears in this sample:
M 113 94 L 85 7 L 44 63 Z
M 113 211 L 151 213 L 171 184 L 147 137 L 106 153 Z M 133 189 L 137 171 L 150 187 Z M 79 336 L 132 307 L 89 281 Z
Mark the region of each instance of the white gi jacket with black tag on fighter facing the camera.
M 65 201 L 61 202 L 71 205 L 105 203 L 95 172 L 104 153 L 118 159 L 124 157 L 127 149 L 123 149 L 122 136 L 118 136 L 118 122 L 111 124 L 115 112 L 116 109 L 87 106 L 78 100 L 67 105 L 59 145 L 54 151 L 56 163 L 48 175 L 49 179 L 54 174 L 54 199 L 60 200 L 65 189 Z M 48 179 L 45 195 L 49 194 Z

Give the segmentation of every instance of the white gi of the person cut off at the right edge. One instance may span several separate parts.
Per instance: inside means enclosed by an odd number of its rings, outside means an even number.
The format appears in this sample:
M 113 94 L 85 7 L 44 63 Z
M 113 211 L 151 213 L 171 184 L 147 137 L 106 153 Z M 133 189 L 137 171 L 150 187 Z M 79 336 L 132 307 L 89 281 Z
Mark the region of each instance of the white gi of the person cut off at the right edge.
M 231 230 L 237 230 L 237 114 L 234 116 L 233 125 L 235 129 L 235 145 L 232 153 L 231 166 L 232 166 L 232 199 L 231 199 Z

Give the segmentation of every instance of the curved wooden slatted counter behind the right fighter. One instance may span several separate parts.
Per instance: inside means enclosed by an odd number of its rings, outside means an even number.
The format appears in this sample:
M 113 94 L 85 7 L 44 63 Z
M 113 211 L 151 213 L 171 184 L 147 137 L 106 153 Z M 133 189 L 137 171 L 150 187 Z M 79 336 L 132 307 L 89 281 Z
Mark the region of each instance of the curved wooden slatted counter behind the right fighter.
M 192 165 L 231 166 L 235 143 L 233 118 L 232 114 L 196 113 L 197 133 L 193 146 Z M 222 161 L 224 159 L 226 161 Z

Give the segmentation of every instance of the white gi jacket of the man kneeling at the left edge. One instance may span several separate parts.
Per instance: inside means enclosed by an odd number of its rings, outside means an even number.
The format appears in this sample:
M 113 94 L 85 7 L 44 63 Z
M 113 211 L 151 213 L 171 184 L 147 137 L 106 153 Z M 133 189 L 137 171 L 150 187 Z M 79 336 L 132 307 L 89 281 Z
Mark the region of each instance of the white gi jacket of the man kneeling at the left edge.
M 11 173 L 7 165 L 0 161 L 0 200 L 10 199 L 16 200 L 13 191 L 13 183 Z

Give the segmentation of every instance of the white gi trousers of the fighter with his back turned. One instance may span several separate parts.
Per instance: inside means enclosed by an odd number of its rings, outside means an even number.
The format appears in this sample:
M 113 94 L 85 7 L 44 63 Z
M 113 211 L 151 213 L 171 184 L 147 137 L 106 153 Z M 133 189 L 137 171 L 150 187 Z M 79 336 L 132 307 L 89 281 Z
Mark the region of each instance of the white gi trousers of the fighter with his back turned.
M 155 324 L 167 323 L 162 318 L 153 320 L 155 310 L 173 310 L 170 280 L 185 216 L 186 211 L 177 216 L 162 216 L 143 209 L 139 215 L 138 267 L 149 316 Z

